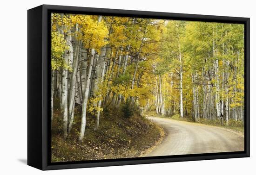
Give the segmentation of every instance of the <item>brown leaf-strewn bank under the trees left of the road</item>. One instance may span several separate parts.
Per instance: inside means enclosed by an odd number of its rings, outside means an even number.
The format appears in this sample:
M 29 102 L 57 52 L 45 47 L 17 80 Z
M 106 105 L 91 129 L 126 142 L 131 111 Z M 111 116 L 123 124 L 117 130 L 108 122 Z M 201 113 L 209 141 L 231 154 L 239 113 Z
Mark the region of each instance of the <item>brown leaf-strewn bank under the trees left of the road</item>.
M 100 126 L 94 131 L 95 117 L 88 115 L 85 137 L 79 143 L 80 115 L 67 139 L 63 139 L 61 117 L 54 113 L 52 162 L 140 157 L 150 152 L 164 137 L 163 129 L 154 122 L 134 114 L 125 118 L 118 109 L 103 111 Z

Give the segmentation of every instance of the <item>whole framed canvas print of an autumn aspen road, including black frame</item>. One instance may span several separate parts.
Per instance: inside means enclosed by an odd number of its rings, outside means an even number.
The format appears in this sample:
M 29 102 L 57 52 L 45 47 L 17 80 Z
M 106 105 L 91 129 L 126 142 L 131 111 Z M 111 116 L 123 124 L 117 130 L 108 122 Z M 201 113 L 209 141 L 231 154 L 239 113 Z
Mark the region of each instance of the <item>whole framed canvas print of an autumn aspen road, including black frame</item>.
M 28 10 L 28 165 L 249 156 L 249 18 Z

